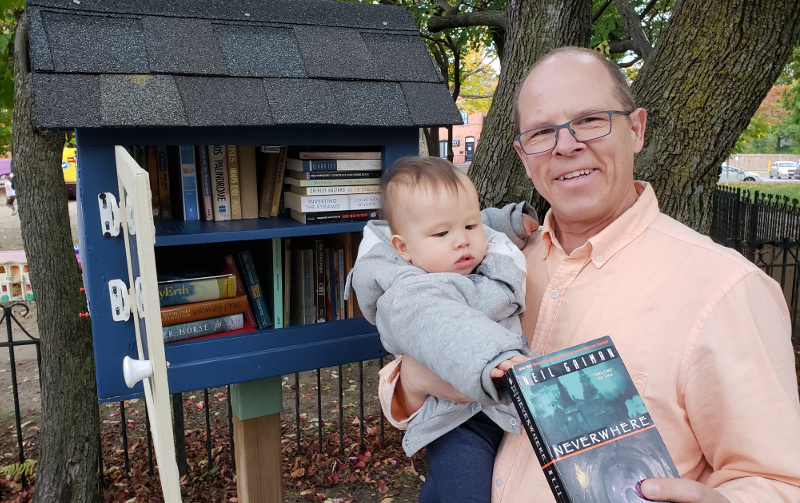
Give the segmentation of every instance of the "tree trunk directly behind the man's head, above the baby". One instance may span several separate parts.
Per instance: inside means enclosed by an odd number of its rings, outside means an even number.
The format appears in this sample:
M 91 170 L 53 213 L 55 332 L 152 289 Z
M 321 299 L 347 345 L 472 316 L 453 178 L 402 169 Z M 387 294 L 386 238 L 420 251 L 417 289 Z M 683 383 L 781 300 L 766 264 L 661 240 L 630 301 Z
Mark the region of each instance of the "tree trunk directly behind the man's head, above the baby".
M 590 0 L 509 0 L 506 13 L 503 66 L 469 168 L 484 207 L 532 200 L 533 185 L 513 145 L 517 86 L 541 55 L 565 45 L 585 47 L 591 35 Z M 542 201 L 534 201 L 540 212 Z

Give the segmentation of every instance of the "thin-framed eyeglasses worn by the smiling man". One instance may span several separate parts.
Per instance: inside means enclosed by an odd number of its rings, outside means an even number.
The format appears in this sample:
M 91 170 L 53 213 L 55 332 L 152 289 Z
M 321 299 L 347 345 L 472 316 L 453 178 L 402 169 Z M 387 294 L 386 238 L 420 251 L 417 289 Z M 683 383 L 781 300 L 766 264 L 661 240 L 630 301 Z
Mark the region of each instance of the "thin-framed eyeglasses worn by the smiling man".
M 524 131 L 514 138 L 527 155 L 542 154 L 556 148 L 558 132 L 566 129 L 575 141 L 586 142 L 611 134 L 611 119 L 615 115 L 630 115 L 631 112 L 604 110 L 581 115 L 557 126 L 544 126 Z

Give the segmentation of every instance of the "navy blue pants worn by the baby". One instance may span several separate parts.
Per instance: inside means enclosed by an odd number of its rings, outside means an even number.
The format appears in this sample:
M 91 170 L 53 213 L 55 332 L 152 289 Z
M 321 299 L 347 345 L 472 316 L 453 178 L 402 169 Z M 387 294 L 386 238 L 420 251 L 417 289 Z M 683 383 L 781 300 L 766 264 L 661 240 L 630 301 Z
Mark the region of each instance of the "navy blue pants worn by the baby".
M 503 430 L 479 412 L 425 447 L 431 472 L 419 503 L 489 503 Z

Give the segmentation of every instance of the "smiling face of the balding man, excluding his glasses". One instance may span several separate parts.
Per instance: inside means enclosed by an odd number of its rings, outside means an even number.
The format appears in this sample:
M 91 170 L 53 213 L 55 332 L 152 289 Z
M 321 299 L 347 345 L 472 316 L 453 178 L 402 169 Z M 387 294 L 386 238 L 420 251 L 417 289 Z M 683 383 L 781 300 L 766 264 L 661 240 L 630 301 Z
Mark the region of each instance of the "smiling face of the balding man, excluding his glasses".
M 622 110 L 613 81 L 597 61 L 559 55 L 541 63 L 519 96 L 520 131 L 563 124 L 587 113 Z M 560 230 L 599 232 L 636 202 L 633 156 L 644 141 L 646 112 L 612 117 L 611 134 L 578 142 L 566 129 L 556 147 L 527 155 L 514 147 Z

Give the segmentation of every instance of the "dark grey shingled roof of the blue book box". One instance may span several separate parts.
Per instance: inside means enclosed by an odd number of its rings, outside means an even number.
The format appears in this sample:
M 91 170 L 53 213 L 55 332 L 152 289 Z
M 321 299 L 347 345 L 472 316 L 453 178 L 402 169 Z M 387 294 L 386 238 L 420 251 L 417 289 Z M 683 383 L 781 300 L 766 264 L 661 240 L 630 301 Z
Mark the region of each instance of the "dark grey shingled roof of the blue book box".
M 461 123 L 400 7 L 28 0 L 26 8 L 43 128 Z

